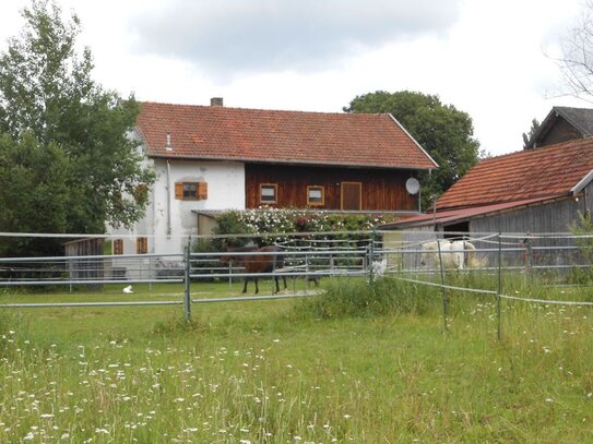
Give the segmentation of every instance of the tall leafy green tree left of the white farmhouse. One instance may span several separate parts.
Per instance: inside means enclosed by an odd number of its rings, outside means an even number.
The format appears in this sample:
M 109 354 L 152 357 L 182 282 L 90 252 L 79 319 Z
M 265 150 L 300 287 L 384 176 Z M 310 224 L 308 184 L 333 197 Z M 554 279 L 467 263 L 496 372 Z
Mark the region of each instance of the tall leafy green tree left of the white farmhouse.
M 91 51 L 76 50 L 80 21 L 75 14 L 68 21 L 61 15 L 52 0 L 33 0 L 22 11 L 22 33 L 9 39 L 0 55 L 1 155 L 14 158 L 21 151 L 21 171 L 26 177 L 52 167 L 48 159 L 64 166 L 63 173 L 46 178 L 47 185 L 31 181 L 10 188 L 13 200 L 31 202 L 35 195 L 54 205 L 55 217 L 16 205 L 11 220 L 23 221 L 24 214 L 47 219 L 44 224 L 27 219 L 27 224 L 48 232 L 98 233 L 106 223 L 129 227 L 144 213 L 145 193 L 139 193 L 139 187 L 145 189 L 155 180 L 154 172 L 142 166 L 138 142 L 128 136 L 139 104 L 133 96 L 122 99 L 93 81 Z M 11 171 L 0 168 L 1 175 Z M 12 179 L 3 176 L 0 181 Z M 68 188 L 67 195 L 62 187 Z M 0 230 L 21 231 L 4 218 L 0 224 Z

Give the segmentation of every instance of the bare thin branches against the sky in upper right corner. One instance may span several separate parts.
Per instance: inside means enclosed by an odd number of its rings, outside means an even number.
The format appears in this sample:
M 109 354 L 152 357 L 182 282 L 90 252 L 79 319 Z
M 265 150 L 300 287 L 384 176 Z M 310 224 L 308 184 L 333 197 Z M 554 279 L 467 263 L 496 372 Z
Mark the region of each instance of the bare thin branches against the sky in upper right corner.
M 560 43 L 557 59 L 572 95 L 593 99 L 593 0 L 583 2 L 582 15 Z

